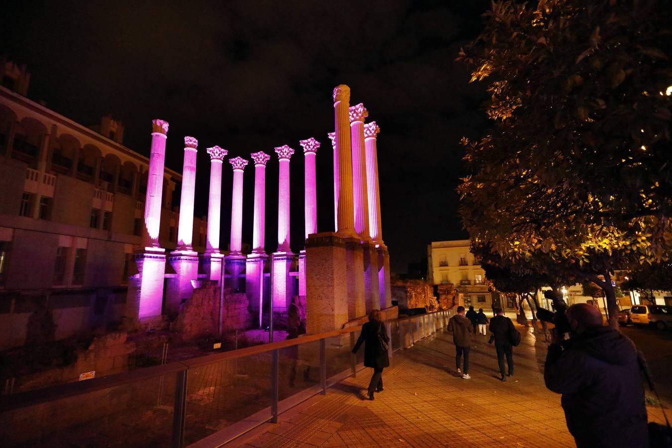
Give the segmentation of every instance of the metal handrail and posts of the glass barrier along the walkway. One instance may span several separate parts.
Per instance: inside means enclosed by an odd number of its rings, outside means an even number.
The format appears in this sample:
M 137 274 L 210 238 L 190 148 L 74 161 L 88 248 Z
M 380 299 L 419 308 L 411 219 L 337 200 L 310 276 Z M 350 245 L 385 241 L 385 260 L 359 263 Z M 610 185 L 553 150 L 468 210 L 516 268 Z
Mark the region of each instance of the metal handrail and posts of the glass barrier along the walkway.
M 390 319 L 384 321 L 386 324 L 388 336 L 391 337 L 391 325 L 396 322 L 404 321 L 415 321 L 415 331 L 413 330 L 413 325 L 411 325 L 411 345 L 415 341 L 421 339 L 420 327 L 423 326 L 423 333 L 428 334 L 427 325 L 431 325 L 430 328 L 436 328 L 437 322 L 435 321 L 435 314 L 447 313 L 448 316 L 444 314 L 444 319 L 449 317 L 452 314 L 452 309 L 450 310 L 438 310 L 432 311 L 425 314 L 418 314 L 416 316 L 403 316 L 396 319 Z M 425 320 L 426 319 L 426 320 Z M 421 324 L 422 322 L 422 324 Z M 343 328 L 341 330 L 333 330 L 329 332 L 323 332 L 318 334 L 308 334 L 296 339 L 288 339 L 286 341 L 278 341 L 274 343 L 267 343 L 263 345 L 255 345 L 253 347 L 246 347 L 245 349 L 238 349 L 233 351 L 227 351 L 224 353 L 215 353 L 213 355 L 206 355 L 202 357 L 187 359 L 184 361 L 177 361 L 173 363 L 168 363 L 164 365 L 157 365 L 153 367 L 146 367 L 144 369 L 138 369 L 126 373 L 118 373 L 116 375 L 110 375 L 107 377 L 99 377 L 88 379 L 82 382 L 74 382 L 69 384 L 62 384 L 58 386 L 52 386 L 50 388 L 44 388 L 41 390 L 32 390 L 28 392 L 19 392 L 18 394 L 12 394 L 7 396 L 0 396 L 0 412 L 6 412 L 9 410 L 16 410 L 19 408 L 25 408 L 28 406 L 34 406 L 36 404 L 41 404 L 45 402 L 51 402 L 54 400 L 60 400 L 62 398 L 69 398 L 72 396 L 78 396 L 81 394 L 87 394 L 89 392 L 95 392 L 98 390 L 114 388 L 117 386 L 124 386 L 126 384 L 132 384 L 135 382 L 141 382 L 147 379 L 161 377 L 163 375 L 175 374 L 177 376 L 177 382 L 175 384 L 175 406 L 173 412 L 173 447 L 183 447 L 184 446 L 184 426 L 185 426 L 185 403 L 186 403 L 186 384 L 187 378 L 189 376 L 189 370 L 194 369 L 195 367 L 202 367 L 204 365 L 210 365 L 214 363 L 221 363 L 223 361 L 230 361 L 233 359 L 240 359 L 243 357 L 249 357 L 253 355 L 259 355 L 261 353 L 273 354 L 273 374 L 271 376 L 271 412 L 268 420 L 271 422 L 278 421 L 278 357 L 280 350 L 286 349 L 288 347 L 293 347 L 295 345 L 302 345 L 307 343 L 312 343 L 315 341 L 320 342 L 320 365 L 321 365 L 321 374 L 320 374 L 320 384 L 321 387 L 318 388 L 319 392 L 324 394 L 327 389 L 326 381 L 326 355 L 325 355 L 325 341 L 331 337 L 339 337 L 343 334 L 350 334 L 350 345 L 353 346 L 355 343 L 354 333 L 361 330 L 362 325 L 353 326 L 349 328 Z M 431 334 L 434 330 L 430 330 Z M 415 335 L 414 335 L 415 332 Z M 399 347 L 401 348 L 401 347 Z M 392 344 L 390 340 L 390 356 L 392 355 Z M 351 355 L 351 375 L 355 375 L 358 370 L 358 365 L 355 361 L 355 355 Z M 239 435 L 250 431 L 254 427 L 258 426 L 259 422 L 256 424 L 251 424 L 250 427 L 242 429 Z M 225 430 L 223 430 L 225 431 Z

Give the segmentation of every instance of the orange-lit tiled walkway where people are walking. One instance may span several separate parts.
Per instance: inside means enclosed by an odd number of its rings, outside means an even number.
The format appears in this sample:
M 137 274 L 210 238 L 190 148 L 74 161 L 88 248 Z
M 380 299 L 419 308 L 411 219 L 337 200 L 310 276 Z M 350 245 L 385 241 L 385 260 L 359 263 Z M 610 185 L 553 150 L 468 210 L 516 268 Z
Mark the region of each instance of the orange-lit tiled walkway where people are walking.
M 397 352 L 376 400 L 366 399 L 365 369 L 229 446 L 575 446 L 560 396 L 544 387 L 546 346 L 524 333 L 514 349 L 515 375 L 502 383 L 495 349 L 480 338 L 470 355 L 472 379 L 454 374 L 451 335 L 435 334 Z M 662 421 L 659 410 L 649 414 Z

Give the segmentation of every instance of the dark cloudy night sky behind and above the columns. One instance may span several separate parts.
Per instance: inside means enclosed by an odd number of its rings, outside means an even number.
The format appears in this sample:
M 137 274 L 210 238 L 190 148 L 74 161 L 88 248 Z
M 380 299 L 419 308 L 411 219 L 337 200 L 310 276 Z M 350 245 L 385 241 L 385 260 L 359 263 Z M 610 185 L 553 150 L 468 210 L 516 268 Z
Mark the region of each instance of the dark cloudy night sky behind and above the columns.
M 150 5 L 149 3 L 153 3 Z M 432 240 L 466 238 L 455 187 L 460 138 L 487 125 L 482 87 L 454 62 L 476 37 L 487 1 L 211 1 L 4 3 L 0 54 L 27 64 L 28 95 L 81 124 L 112 114 L 124 144 L 149 155 L 151 120 L 170 123 L 166 165 L 182 171 L 183 137 L 199 140 L 196 214 L 207 214 L 210 158 L 263 150 L 266 249 L 277 247 L 278 157 L 292 157 L 292 247 L 303 237 L 303 154 L 314 136 L 318 228 L 333 231 L 331 91 L 351 88 L 380 126 L 382 234 L 392 271 L 426 255 Z M 222 179 L 222 248 L 232 170 Z M 254 168 L 245 169 L 243 242 L 251 242 Z M 179 194 L 175 204 L 179 203 Z

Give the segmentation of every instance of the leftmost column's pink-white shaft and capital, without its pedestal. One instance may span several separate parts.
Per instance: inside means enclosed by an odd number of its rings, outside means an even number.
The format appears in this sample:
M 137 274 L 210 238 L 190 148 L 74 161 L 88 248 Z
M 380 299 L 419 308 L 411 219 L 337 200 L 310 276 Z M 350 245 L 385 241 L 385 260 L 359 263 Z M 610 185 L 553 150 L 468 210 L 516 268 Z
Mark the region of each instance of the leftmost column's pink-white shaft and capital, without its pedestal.
M 168 122 L 153 120 L 152 149 L 149 156 L 149 178 L 144 199 L 143 245 L 149 249 L 159 246 L 159 224 L 161 224 L 161 193 L 163 192 L 163 167 L 165 163 Z

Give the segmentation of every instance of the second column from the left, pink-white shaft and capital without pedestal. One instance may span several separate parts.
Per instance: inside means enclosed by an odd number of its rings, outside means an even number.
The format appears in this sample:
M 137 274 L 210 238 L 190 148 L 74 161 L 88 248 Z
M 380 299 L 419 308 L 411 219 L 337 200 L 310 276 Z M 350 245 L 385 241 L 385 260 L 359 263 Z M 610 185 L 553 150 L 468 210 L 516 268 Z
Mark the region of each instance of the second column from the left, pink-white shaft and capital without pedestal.
M 194 191 L 196 189 L 196 148 L 198 140 L 184 138 L 184 165 L 182 191 L 179 199 L 179 223 L 177 225 L 177 250 L 192 251 L 194 236 Z

